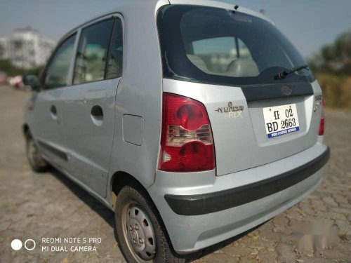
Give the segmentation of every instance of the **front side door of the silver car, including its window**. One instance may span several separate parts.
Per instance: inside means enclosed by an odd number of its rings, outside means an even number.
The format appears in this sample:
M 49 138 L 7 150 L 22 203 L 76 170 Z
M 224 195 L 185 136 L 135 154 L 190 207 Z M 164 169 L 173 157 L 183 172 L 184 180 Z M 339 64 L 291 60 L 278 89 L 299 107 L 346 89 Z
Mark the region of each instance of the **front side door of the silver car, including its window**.
M 60 168 L 64 168 L 67 162 L 62 91 L 69 81 L 75 39 L 76 34 L 72 34 L 58 45 L 42 76 L 41 90 L 34 96 L 32 133 L 44 156 Z

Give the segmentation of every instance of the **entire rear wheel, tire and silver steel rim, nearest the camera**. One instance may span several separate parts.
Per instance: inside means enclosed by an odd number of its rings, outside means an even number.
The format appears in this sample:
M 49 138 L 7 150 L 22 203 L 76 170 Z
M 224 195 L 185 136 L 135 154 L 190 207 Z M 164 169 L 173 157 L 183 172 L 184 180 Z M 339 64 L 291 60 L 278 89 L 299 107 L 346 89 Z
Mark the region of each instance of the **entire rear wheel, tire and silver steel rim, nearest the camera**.
M 171 249 L 156 208 L 139 187 L 119 191 L 115 230 L 127 262 L 185 262 Z

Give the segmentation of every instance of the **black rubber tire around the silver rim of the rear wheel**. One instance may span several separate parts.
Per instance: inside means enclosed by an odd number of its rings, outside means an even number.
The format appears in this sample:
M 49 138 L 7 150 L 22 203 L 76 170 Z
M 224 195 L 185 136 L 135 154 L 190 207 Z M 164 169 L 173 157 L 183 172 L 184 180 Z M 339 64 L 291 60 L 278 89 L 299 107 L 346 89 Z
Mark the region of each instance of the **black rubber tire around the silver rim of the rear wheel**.
M 125 209 L 126 206 L 128 206 L 130 203 L 134 206 L 129 209 L 129 214 L 131 214 L 131 210 L 140 210 L 140 213 L 142 213 L 142 215 L 145 215 L 145 218 L 147 219 L 147 227 L 149 223 L 151 223 L 151 226 L 153 228 L 154 238 L 156 239 L 156 248 L 154 249 L 155 253 L 151 254 L 153 255 L 152 259 L 145 260 L 141 258 L 140 254 L 137 255 L 138 253 L 134 250 L 135 245 L 133 247 L 131 239 L 129 239 L 128 234 L 126 234 L 126 232 L 128 233 L 128 230 L 131 231 L 130 227 L 128 227 L 128 222 L 130 222 L 130 220 L 127 220 L 127 222 L 123 218 L 128 217 L 128 215 L 125 214 L 127 213 Z M 126 187 L 123 187 L 121 191 L 119 191 L 115 207 L 114 230 L 116 231 L 115 234 L 117 235 L 119 246 L 127 262 L 185 262 L 185 257 L 177 255 L 171 247 L 170 241 L 168 241 L 167 238 L 166 231 L 164 230 L 163 222 L 161 222 L 161 218 L 159 217 L 154 203 L 152 202 L 151 198 L 145 193 L 145 190 L 143 190 L 141 187 L 138 187 L 137 185 L 127 185 Z M 129 216 L 129 218 L 131 217 Z M 126 224 L 124 224 L 124 222 L 126 222 Z M 135 224 L 135 226 L 136 225 L 137 224 Z M 131 238 L 133 238 L 132 236 L 133 235 L 131 234 Z M 145 240 L 146 239 L 147 238 L 145 238 Z

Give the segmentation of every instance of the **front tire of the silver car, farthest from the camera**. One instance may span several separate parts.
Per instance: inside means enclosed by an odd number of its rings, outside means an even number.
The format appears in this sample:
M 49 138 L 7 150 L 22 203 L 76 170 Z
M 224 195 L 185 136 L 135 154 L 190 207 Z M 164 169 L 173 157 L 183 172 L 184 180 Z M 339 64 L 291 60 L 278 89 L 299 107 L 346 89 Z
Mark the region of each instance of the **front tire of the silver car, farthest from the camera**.
M 43 173 L 48 170 L 50 166 L 41 156 L 37 144 L 29 132 L 25 135 L 25 141 L 25 153 L 32 170 L 37 173 Z

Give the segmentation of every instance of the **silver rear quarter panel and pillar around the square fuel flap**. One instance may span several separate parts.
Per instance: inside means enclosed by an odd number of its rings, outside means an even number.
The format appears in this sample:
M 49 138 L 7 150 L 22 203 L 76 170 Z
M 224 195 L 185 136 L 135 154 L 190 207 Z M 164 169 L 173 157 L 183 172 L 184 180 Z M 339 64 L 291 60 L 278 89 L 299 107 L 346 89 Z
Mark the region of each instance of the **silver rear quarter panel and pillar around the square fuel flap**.
M 168 1 L 159 1 L 157 6 L 163 4 L 168 4 Z M 162 70 L 155 7 L 151 4 L 121 7 L 126 32 L 124 56 L 128 62 L 124 62 L 117 90 L 110 168 L 111 177 L 119 171 L 128 173 L 145 188 L 154 183 L 161 134 Z M 140 34 L 140 31 L 144 33 Z M 141 145 L 123 140 L 122 119 L 125 114 L 143 118 Z

